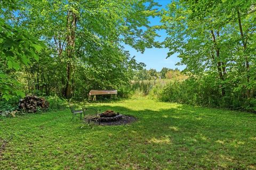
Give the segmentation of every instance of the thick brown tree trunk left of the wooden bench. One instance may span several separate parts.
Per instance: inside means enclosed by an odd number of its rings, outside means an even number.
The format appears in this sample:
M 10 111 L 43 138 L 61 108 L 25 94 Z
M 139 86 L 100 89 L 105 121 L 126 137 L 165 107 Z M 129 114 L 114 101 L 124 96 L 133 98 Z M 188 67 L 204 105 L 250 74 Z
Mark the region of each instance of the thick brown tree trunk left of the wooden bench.
M 65 97 L 71 97 L 71 78 L 73 72 L 72 59 L 75 52 L 75 34 L 76 34 L 77 16 L 73 11 L 68 11 L 67 15 L 67 84 L 65 90 Z

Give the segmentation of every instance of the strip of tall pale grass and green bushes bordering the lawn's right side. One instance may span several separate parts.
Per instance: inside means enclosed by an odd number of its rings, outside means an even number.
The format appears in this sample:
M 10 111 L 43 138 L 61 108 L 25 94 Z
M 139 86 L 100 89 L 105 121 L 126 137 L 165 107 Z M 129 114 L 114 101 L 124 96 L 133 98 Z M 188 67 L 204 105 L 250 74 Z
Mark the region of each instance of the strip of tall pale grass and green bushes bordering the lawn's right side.
M 226 87 L 226 96 L 222 97 L 218 85 L 207 80 L 132 81 L 125 89 L 129 97 L 147 96 L 171 103 L 256 111 L 255 98 L 247 100 L 241 97 L 241 91 L 234 91 L 232 87 Z

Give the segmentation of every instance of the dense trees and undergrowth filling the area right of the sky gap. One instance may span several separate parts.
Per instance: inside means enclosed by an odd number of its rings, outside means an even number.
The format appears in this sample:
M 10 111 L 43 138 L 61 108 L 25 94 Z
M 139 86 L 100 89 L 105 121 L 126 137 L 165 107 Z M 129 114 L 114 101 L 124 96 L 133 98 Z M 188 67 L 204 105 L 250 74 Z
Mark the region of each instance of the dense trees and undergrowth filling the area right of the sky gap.
M 162 22 L 169 56 L 178 53 L 190 80 L 165 89 L 169 100 L 255 108 L 255 1 L 173 1 Z M 178 90 L 179 89 L 179 90 Z M 184 97 L 182 97 L 185 94 Z M 191 101 L 193 100 L 193 101 Z M 191 102 L 190 102 L 191 101 Z

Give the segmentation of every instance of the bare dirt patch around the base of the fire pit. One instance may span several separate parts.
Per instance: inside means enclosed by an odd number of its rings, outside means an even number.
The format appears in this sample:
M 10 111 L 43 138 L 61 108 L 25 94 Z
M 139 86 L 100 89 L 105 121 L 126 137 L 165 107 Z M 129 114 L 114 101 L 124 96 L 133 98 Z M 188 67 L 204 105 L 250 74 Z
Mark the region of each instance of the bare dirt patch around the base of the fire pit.
M 137 118 L 130 115 L 122 115 L 121 120 L 113 121 L 113 122 L 100 122 L 101 126 L 111 126 L 111 125 L 122 125 L 122 124 L 131 124 L 132 122 L 137 121 Z M 87 122 L 85 122 L 87 123 Z M 99 122 L 94 122 L 95 125 L 99 125 Z

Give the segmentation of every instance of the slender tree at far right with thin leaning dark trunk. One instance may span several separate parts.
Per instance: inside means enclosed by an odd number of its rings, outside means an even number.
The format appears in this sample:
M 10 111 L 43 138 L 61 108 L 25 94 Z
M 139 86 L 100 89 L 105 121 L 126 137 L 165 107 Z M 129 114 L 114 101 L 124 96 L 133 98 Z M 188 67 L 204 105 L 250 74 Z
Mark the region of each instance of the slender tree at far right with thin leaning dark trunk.
M 244 62 L 242 65 L 245 68 L 241 71 L 246 74 L 246 83 L 241 83 L 241 87 L 246 86 L 246 96 L 249 99 L 251 96 L 250 88 L 252 87 L 250 81 L 250 63 L 252 58 L 249 57 L 249 54 L 252 54 L 252 48 L 255 47 L 249 44 L 252 44 L 251 41 L 253 41 L 252 38 L 255 35 L 255 22 L 253 22 L 255 20 L 254 12 L 256 12 L 255 1 L 237 1 L 235 3 L 230 1 L 204 1 L 201 3 L 188 1 L 188 4 L 191 5 L 191 8 L 194 8 L 191 15 L 192 18 L 202 19 L 209 14 L 215 13 L 214 18 L 219 22 L 218 26 L 227 28 L 229 24 L 234 25 L 227 32 L 232 36 L 229 39 L 229 46 L 233 45 L 237 48 L 236 53 L 238 53 L 239 60 Z M 219 13 L 224 15 L 220 16 Z M 242 55 L 240 54 L 241 51 Z

